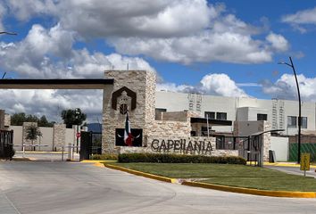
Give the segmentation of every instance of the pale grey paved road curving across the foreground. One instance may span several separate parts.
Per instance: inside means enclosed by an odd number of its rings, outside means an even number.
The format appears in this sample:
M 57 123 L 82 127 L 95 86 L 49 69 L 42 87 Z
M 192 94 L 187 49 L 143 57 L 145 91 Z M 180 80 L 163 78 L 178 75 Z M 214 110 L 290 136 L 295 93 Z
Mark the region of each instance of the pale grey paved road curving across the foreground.
M 316 199 L 175 185 L 92 164 L 0 161 L 0 213 L 315 213 Z

